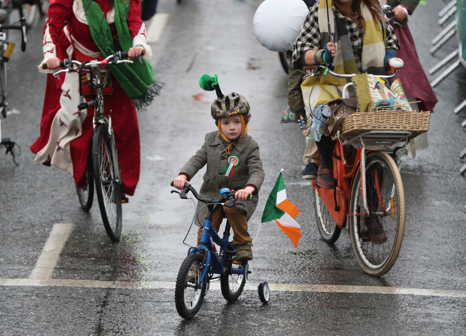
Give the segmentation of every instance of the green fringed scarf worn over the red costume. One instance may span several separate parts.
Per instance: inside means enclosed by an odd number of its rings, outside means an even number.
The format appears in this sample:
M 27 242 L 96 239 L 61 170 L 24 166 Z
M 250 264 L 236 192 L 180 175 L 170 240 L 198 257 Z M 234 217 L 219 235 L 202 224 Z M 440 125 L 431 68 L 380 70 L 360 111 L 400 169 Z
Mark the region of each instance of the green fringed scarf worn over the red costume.
M 82 0 L 92 39 L 104 57 L 114 54 L 117 50 L 112 31 L 97 2 Z M 114 0 L 115 26 L 117 42 L 121 50 L 133 47 L 133 39 L 128 28 L 127 18 L 130 9 L 129 0 Z M 112 66 L 112 74 L 125 93 L 134 100 L 137 109 L 145 110 L 157 96 L 164 83 L 154 79 L 150 61 L 144 57 L 133 60 L 133 64 L 117 64 Z

